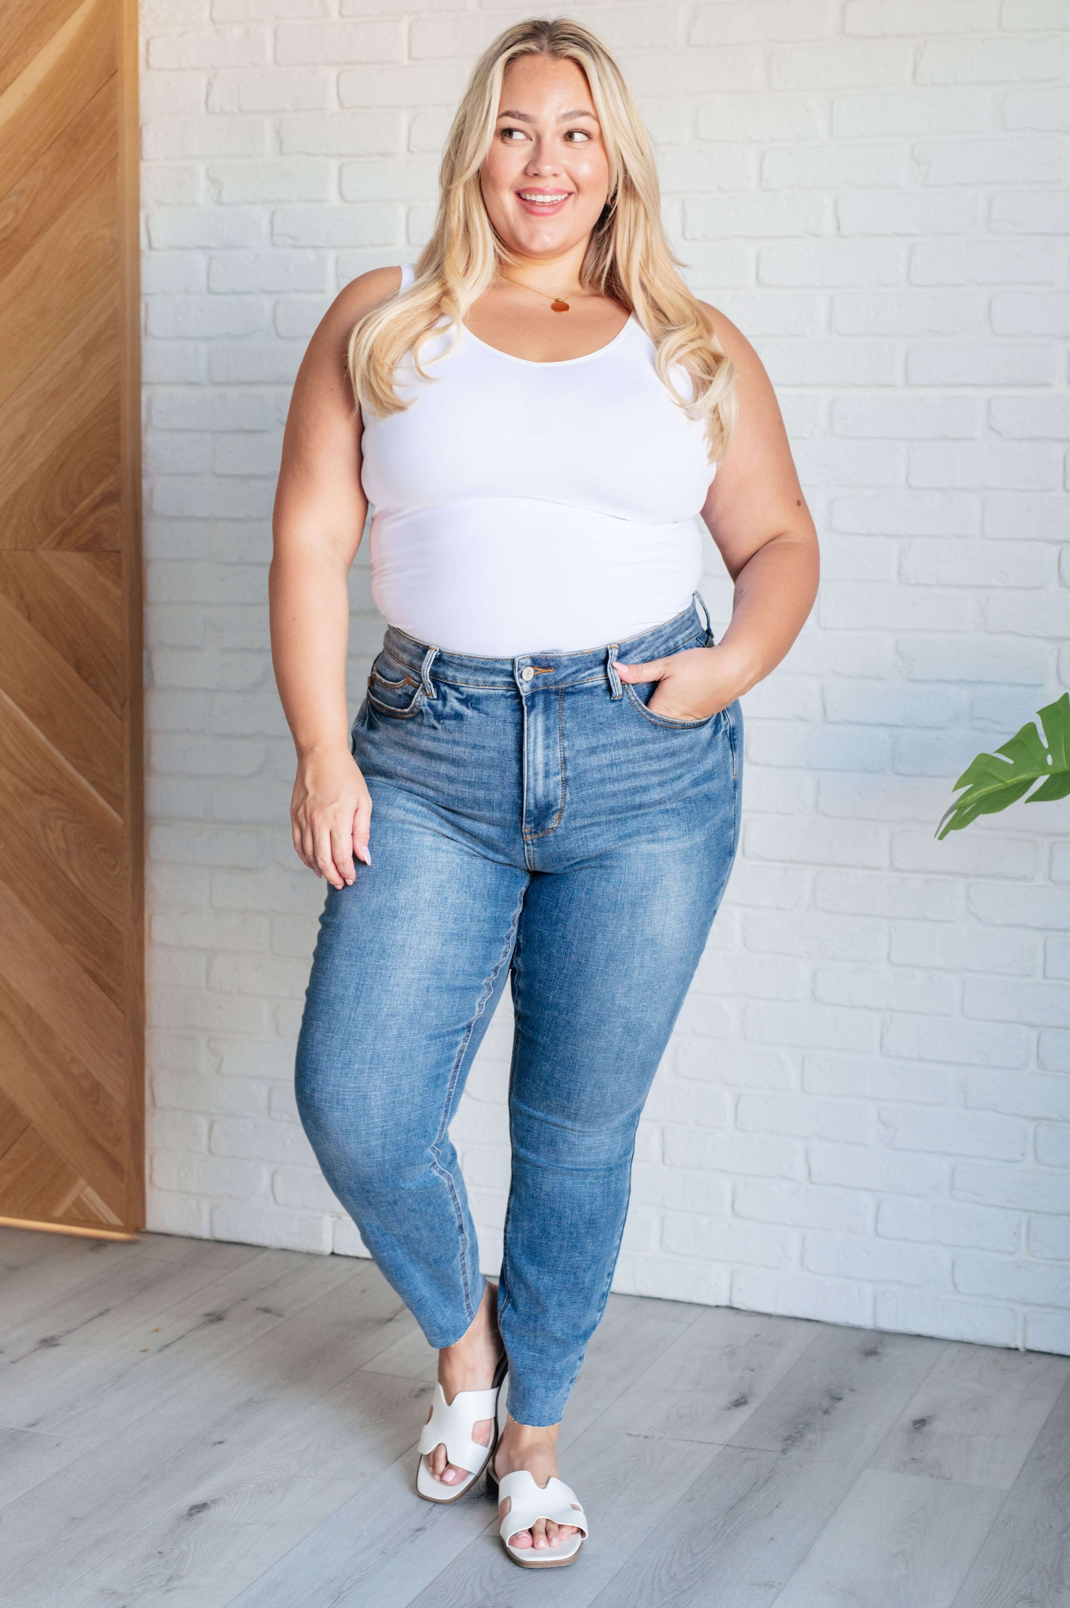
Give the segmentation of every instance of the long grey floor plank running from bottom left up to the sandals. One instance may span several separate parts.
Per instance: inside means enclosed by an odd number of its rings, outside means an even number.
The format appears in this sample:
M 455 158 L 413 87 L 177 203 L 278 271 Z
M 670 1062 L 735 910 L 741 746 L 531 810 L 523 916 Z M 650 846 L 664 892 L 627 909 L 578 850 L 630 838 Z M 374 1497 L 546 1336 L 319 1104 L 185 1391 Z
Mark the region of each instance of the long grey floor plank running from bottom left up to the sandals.
M 428 1397 L 359 1368 L 42 1608 L 224 1608 L 414 1444 Z

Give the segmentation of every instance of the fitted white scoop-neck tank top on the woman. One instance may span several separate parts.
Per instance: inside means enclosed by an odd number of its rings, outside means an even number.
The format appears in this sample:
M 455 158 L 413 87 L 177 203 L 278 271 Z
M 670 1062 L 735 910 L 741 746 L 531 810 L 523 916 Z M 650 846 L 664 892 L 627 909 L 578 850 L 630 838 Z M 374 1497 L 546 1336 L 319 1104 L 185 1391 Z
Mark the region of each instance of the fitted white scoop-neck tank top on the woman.
M 401 289 L 412 283 L 402 269 Z M 510 357 L 462 330 L 364 413 L 372 595 L 417 642 L 491 658 L 621 642 L 687 608 L 714 466 L 632 315 L 587 357 Z M 689 378 L 677 384 L 689 394 Z

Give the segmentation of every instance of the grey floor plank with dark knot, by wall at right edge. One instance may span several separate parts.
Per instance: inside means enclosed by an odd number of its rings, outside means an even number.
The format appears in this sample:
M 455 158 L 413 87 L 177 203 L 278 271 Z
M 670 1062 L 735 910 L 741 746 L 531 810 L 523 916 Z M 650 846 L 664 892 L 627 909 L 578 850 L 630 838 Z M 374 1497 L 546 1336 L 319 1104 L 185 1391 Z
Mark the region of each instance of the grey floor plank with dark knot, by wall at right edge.
M 1009 1491 L 1067 1380 L 1070 1357 L 951 1344 L 872 1466 Z

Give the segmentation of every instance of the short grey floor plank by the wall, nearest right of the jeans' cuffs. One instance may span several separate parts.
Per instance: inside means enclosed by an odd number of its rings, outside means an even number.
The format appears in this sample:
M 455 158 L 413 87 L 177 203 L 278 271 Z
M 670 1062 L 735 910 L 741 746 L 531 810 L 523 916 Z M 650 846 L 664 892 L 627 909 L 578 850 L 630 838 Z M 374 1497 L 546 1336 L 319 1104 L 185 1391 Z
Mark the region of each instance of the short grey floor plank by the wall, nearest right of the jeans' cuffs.
M 806 1319 L 706 1307 L 605 1421 L 640 1436 L 726 1446 L 821 1335 Z

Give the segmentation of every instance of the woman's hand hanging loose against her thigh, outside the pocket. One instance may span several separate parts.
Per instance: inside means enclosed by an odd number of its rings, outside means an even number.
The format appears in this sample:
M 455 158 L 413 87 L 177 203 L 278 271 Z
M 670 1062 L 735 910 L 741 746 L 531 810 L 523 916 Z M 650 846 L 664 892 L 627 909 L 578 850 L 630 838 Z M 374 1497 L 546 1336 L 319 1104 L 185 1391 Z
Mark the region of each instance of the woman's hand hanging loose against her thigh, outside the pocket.
M 298 855 L 331 888 L 352 886 L 357 876 L 354 854 L 365 865 L 372 863 L 372 794 L 348 748 L 314 748 L 301 756 L 290 822 Z

